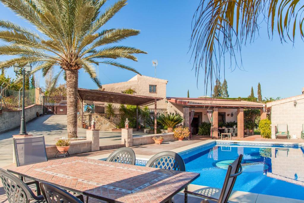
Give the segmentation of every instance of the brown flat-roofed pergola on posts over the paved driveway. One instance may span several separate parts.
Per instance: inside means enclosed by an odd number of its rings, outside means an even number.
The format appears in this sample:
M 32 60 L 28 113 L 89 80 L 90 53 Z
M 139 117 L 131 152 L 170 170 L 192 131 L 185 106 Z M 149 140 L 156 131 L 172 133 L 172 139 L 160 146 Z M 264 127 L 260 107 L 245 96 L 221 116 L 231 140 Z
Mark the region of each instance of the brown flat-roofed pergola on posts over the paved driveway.
M 145 107 L 154 104 L 154 133 L 156 134 L 157 125 L 157 101 L 160 97 L 142 96 L 133 94 L 123 94 L 107 92 L 96 89 L 78 88 L 78 98 L 81 101 L 81 123 L 83 122 L 83 101 L 97 101 L 107 103 L 129 104 L 136 106 L 136 128 L 138 129 L 138 107 Z

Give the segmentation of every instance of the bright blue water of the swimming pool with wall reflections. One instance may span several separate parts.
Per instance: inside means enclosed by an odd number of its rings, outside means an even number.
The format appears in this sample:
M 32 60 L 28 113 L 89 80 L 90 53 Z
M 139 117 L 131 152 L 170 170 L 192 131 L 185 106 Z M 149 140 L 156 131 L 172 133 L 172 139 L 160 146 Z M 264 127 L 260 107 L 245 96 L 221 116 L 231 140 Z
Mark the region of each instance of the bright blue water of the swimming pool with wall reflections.
M 283 150 L 282 150 L 283 149 Z M 299 148 L 218 146 L 182 152 L 192 184 L 222 188 L 227 167 L 243 154 L 243 173 L 233 190 L 304 200 L 303 152 Z

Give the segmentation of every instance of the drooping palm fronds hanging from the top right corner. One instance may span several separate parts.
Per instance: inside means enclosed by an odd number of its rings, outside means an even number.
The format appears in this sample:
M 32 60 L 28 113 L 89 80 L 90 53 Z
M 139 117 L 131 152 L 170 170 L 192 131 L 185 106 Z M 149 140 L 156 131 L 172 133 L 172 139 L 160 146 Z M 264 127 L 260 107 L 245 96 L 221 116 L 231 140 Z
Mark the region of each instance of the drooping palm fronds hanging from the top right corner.
M 298 33 L 303 39 L 303 11 L 303 0 L 201 0 L 192 19 L 190 52 L 196 74 L 204 71 L 205 91 L 208 85 L 212 90 L 220 68 L 225 71 L 225 55 L 232 70 L 242 67 L 241 45 L 254 41 L 261 23 L 281 42 L 294 42 Z

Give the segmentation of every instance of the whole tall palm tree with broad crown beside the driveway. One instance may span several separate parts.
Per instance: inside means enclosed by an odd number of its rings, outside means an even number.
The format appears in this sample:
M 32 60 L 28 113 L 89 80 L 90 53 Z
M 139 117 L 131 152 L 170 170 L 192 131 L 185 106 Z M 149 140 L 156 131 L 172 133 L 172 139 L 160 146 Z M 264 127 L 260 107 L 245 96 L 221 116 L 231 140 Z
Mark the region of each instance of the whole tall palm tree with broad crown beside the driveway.
M 77 137 L 77 88 L 78 71 L 83 68 L 98 87 L 94 64 L 109 64 L 138 73 L 134 68 L 120 64 L 113 59 L 127 58 L 137 61 L 133 54 L 146 53 L 127 46 L 105 46 L 138 35 L 134 29 L 100 28 L 123 6 L 126 0 L 119 0 L 101 13 L 106 0 L 1 0 L 16 15 L 36 27 L 33 32 L 8 20 L 0 20 L 0 39 L 9 45 L 0 46 L 1 55 L 16 55 L 0 62 L 0 68 L 9 68 L 15 62 L 24 66 L 30 62 L 36 65 L 32 74 L 42 70 L 43 76 L 54 66 L 60 71 L 52 79 L 50 92 L 63 75 L 67 83 L 67 133 Z M 109 59 L 106 59 L 109 58 Z

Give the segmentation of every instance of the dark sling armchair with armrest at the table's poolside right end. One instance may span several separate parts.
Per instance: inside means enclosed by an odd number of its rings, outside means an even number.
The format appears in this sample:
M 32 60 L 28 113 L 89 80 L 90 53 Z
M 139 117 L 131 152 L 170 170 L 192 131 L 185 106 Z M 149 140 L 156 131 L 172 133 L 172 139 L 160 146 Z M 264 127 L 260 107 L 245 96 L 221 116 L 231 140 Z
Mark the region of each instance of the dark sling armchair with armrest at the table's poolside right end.
M 187 190 L 184 191 L 185 195 L 192 194 L 194 196 L 205 198 L 205 200 L 202 201 L 203 203 L 227 203 L 234 183 L 237 180 L 237 176 L 243 172 L 241 165 L 242 158 L 243 155 L 241 154 L 237 159 L 235 159 L 235 161 L 231 165 L 228 166 L 221 194 L 219 195 L 219 199 Z

